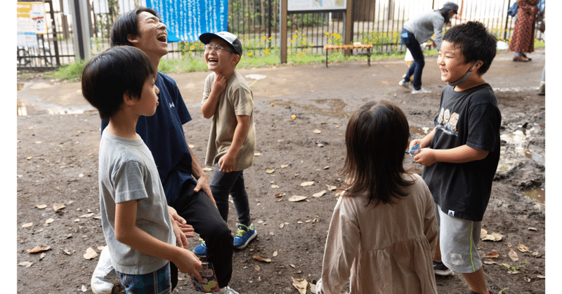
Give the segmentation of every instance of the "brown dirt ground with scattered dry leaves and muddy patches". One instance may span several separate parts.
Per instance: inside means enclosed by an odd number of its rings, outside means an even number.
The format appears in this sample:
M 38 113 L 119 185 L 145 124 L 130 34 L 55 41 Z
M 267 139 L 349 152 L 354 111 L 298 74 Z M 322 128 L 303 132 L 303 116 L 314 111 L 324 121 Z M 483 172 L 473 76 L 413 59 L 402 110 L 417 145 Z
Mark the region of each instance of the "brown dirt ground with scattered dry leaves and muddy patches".
M 545 98 L 536 91 L 544 48 L 530 57 L 532 62 L 512 62 L 511 53 L 500 52 L 484 76 L 495 88 L 502 112 L 502 155 L 483 220 L 483 229 L 496 239 L 481 241 L 478 248 L 482 256 L 498 253 L 483 258 L 486 282 L 494 293 L 546 292 Z M 435 56 L 426 58 L 423 78 L 424 88 L 432 93 L 417 95 L 397 85 L 406 69 L 403 60 L 372 60 L 371 67 L 346 62 L 329 68 L 240 70 L 244 76 L 266 77 L 247 78 L 254 91 L 257 139 L 254 166 L 244 173 L 259 237 L 235 251 L 231 288 L 244 294 L 298 293 L 292 278 L 316 283 L 337 201 L 333 189 L 344 180 L 339 171 L 348 117 L 367 101 L 390 100 L 407 115 L 414 138 L 423 136 L 432 128 L 443 88 L 435 62 Z M 199 103 L 206 75 L 170 74 L 192 115 L 184 126 L 185 138 L 200 163 L 210 124 Z M 99 116 L 81 98 L 79 83 L 40 76 L 18 78 L 18 83 L 18 112 L 27 115 L 17 118 L 17 291 L 91 293 L 99 255 L 84 255 L 88 248 L 99 254 L 105 246 L 98 218 Z M 421 173 L 409 156 L 405 165 Z M 207 172 L 209 179 L 212 173 Z M 288 201 L 294 195 L 307 198 Z M 235 219 L 231 206 L 228 224 L 233 230 Z M 190 248 L 198 243 L 197 236 L 190 239 Z M 35 246 L 49 249 L 28 253 Z M 271 262 L 254 260 L 256 254 Z M 180 278 L 174 293 L 195 293 L 189 276 Z M 460 274 L 436 281 L 439 293 L 466 293 Z M 124 291 L 116 287 L 115 293 Z

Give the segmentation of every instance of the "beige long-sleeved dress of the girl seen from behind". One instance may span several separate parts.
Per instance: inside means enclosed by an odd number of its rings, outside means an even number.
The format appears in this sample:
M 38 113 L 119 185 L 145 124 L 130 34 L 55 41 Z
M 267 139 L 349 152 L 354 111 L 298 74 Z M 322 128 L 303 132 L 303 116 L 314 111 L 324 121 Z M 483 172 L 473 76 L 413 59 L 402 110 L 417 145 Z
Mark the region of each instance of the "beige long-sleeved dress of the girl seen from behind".
M 329 225 L 316 293 L 437 293 L 433 253 L 438 237 L 431 192 L 419 175 L 394 204 L 365 207 L 365 197 L 340 196 Z

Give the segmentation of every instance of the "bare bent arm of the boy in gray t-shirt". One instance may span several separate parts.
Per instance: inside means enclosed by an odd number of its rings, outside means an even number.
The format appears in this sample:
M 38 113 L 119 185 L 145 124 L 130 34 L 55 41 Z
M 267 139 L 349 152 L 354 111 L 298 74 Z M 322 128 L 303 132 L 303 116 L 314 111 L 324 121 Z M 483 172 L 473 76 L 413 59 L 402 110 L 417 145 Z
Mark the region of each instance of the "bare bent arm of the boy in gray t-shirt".
M 160 241 L 136 226 L 137 200 L 115 204 L 115 239 L 142 253 L 174 262 L 180 272 L 202 281 L 201 261 L 190 250 Z

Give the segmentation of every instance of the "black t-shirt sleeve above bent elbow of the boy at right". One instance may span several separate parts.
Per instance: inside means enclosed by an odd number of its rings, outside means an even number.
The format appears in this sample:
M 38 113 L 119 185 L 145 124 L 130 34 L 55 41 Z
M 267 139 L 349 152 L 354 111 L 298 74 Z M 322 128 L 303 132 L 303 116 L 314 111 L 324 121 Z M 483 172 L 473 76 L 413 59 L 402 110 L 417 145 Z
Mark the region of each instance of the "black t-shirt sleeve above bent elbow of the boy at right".
M 499 109 L 490 102 L 469 109 L 469 134 L 466 145 L 474 149 L 493 152 L 502 119 Z

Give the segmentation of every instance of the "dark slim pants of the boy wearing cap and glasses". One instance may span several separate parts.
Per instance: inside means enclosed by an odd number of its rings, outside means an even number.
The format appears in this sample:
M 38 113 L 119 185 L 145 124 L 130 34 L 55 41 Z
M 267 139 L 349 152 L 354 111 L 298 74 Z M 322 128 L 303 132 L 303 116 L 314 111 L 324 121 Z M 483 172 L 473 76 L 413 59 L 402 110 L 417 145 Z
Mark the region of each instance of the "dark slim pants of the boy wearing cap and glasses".
M 226 222 L 228 220 L 228 195 L 230 194 L 233 197 L 238 222 L 245 226 L 251 225 L 248 194 L 244 186 L 244 171 L 223 173 L 219 171 L 220 168 L 220 166 L 216 166 L 210 184 L 218 212 Z

